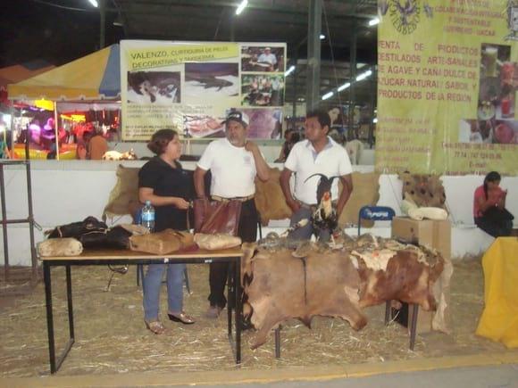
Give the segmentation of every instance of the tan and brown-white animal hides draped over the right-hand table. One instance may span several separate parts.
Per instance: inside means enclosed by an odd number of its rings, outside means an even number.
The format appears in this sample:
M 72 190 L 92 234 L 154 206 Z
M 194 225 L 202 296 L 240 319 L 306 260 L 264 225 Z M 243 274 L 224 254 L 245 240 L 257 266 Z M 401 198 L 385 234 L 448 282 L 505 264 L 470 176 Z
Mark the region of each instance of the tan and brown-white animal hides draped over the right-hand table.
M 315 315 L 339 317 L 359 330 L 367 324 L 362 309 L 384 301 L 437 307 L 433 286 L 445 262 L 437 252 L 370 235 L 338 249 L 305 244 L 295 251 L 282 242 L 273 249 L 243 244 L 243 312 L 257 329 L 253 348 L 289 318 L 310 326 Z

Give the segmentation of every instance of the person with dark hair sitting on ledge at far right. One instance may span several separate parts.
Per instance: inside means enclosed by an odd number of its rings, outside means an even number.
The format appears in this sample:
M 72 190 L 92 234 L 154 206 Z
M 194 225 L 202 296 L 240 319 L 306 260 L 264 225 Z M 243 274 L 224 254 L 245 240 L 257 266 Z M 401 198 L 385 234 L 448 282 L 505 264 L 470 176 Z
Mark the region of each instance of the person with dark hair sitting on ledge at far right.
M 475 224 L 493 237 L 511 235 L 513 215 L 505 209 L 507 190 L 502 190 L 500 174 L 491 171 L 477 187 L 473 200 Z

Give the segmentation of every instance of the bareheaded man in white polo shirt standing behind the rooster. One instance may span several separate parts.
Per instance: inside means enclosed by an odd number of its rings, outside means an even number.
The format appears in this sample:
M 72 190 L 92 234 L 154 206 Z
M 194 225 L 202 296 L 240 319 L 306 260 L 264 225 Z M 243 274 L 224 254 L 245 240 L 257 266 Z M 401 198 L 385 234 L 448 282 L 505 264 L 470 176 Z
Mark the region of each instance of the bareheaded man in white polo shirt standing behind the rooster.
M 293 211 L 290 225 L 297 224 L 301 219 L 311 219 L 314 206 L 317 205 L 316 190 L 320 177 L 313 174 L 323 174 L 326 177 L 339 177 L 344 189 L 338 196 L 338 179 L 333 180 L 331 199 L 336 203 L 337 217 L 346 206 L 353 192 L 351 161 L 347 151 L 328 136 L 330 131 L 330 115 L 326 111 L 311 111 L 305 117 L 305 140 L 293 146 L 284 163 L 280 174 L 280 186 L 286 197 L 288 206 Z M 289 179 L 295 173 L 295 193 L 291 193 Z M 308 177 L 311 177 L 306 181 Z M 298 240 L 311 238 L 315 231 L 311 222 L 305 227 L 293 231 L 289 237 Z M 322 230 L 318 236 L 321 241 L 328 241 L 330 233 Z

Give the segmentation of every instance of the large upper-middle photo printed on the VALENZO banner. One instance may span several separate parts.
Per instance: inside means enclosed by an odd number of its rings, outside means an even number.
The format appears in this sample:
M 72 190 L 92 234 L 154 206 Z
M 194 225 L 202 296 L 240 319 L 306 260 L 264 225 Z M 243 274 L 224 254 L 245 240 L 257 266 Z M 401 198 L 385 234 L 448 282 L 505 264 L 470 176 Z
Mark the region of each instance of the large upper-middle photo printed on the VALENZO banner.
M 185 94 L 197 98 L 221 98 L 239 94 L 238 63 L 186 63 Z

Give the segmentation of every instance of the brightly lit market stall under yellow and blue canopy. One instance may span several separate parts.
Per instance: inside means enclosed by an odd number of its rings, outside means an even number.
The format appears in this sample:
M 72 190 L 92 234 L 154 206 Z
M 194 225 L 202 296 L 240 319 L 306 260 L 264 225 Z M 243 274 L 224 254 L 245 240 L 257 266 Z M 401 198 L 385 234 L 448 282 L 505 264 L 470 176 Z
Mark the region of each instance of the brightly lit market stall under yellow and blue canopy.
M 14 157 L 87 159 L 85 134 L 118 139 L 121 91 L 119 45 L 9 85 Z M 59 151 L 58 151 L 59 150 Z

